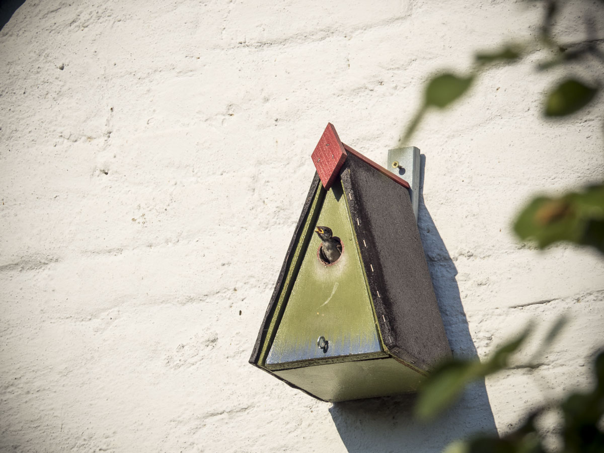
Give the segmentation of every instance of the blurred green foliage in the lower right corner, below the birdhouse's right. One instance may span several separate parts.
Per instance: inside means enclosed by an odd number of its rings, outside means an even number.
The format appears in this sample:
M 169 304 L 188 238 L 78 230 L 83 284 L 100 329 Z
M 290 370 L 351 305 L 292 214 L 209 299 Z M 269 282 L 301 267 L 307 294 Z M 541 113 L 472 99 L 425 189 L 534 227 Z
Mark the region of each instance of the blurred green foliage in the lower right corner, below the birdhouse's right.
M 541 347 L 531 361 L 544 353 L 565 325 L 558 320 L 541 341 Z M 495 350 L 484 362 L 451 359 L 432 371 L 426 379 L 416 402 L 416 416 L 426 421 L 434 419 L 463 393 L 464 388 L 489 374 L 509 368 L 515 353 L 527 340 L 532 326 L 517 338 Z M 532 363 L 517 365 L 535 367 Z M 604 351 L 594 365 L 596 387 L 588 392 L 571 393 L 560 402 L 545 403 L 525 417 L 523 422 L 503 436 L 479 434 L 448 445 L 445 453 L 602 453 L 604 452 Z M 547 413 L 561 414 L 557 446 L 544 442 L 538 420 Z

